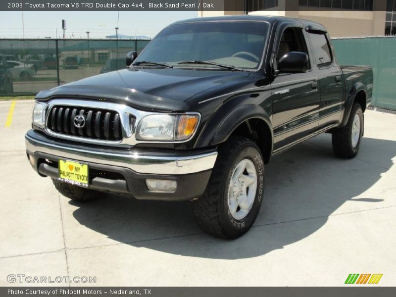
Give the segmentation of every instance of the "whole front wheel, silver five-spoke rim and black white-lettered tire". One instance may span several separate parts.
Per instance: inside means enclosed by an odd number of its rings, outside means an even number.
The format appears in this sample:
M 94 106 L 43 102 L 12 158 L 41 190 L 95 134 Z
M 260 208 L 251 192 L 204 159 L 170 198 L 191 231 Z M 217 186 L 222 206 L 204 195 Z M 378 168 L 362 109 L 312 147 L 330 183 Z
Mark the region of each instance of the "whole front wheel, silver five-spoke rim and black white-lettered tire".
M 218 157 L 205 193 L 195 202 L 199 227 L 220 238 L 238 238 L 253 225 L 264 190 L 260 149 L 245 137 L 231 137 Z

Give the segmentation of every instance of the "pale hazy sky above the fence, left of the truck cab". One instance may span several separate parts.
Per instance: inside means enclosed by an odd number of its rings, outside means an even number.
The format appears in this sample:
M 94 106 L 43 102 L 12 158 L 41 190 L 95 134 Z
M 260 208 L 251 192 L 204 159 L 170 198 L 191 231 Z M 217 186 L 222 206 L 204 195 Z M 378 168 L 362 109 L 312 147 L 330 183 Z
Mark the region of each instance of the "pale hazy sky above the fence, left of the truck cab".
M 154 37 L 165 26 L 197 17 L 196 11 L 120 11 L 119 34 Z M 25 11 L 25 38 L 62 37 L 61 20 L 67 24 L 66 38 L 105 38 L 115 34 L 118 11 Z M 0 11 L 0 38 L 22 37 L 22 12 Z

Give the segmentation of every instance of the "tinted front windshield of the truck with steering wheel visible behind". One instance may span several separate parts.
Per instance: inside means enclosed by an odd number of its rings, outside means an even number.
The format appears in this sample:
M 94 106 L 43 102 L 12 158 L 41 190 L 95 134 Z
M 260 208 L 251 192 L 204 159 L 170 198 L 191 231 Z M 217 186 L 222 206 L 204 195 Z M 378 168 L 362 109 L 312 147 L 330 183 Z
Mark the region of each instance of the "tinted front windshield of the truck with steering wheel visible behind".
M 211 61 L 254 69 L 260 64 L 268 33 L 264 22 L 197 22 L 171 25 L 162 30 L 134 63 L 150 61 L 174 67 L 183 61 Z M 191 67 L 213 65 L 194 64 Z M 224 70 L 224 69 L 223 69 Z

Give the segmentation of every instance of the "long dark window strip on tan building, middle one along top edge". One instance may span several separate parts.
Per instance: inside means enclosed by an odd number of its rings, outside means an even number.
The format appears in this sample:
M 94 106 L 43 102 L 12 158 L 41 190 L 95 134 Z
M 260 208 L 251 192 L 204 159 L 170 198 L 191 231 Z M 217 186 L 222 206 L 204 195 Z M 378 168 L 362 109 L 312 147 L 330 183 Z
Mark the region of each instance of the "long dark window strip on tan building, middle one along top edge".
M 300 6 L 373 10 L 373 0 L 298 0 Z

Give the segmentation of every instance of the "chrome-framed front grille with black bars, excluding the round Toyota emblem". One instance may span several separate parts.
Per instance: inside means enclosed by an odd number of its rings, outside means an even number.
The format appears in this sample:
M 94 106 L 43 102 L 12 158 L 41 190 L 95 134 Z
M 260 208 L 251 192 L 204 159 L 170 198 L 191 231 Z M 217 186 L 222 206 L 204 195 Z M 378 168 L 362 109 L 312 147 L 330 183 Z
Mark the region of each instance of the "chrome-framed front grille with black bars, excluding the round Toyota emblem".
M 135 138 L 140 121 L 152 114 L 163 113 L 104 100 L 56 98 L 49 100 L 45 107 L 44 130 L 51 137 L 103 146 L 131 148 L 140 143 L 163 143 Z M 81 128 L 74 125 L 77 115 L 85 120 Z

